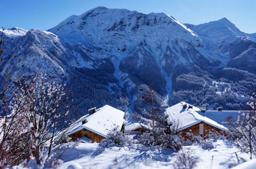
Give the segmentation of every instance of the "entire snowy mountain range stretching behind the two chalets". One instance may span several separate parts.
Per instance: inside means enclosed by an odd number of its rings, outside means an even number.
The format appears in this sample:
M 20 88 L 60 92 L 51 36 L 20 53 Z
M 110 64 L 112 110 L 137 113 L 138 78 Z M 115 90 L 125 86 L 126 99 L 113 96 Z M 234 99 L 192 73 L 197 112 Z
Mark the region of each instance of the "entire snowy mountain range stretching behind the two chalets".
M 104 104 L 132 112 L 149 87 L 165 104 L 243 109 L 256 87 L 255 34 L 226 18 L 195 26 L 164 13 L 97 7 L 48 31 L 5 33 L 4 71 L 15 79 L 40 70 L 66 83 L 74 114 Z

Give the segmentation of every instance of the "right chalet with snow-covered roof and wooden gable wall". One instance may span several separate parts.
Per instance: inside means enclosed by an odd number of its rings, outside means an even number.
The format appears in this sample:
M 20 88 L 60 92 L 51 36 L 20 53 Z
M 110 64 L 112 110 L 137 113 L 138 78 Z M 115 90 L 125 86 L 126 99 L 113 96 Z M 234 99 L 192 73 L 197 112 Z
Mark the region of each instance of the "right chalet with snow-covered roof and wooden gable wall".
M 185 106 L 186 105 L 186 106 Z M 218 122 L 203 116 L 201 109 L 194 107 L 185 102 L 169 107 L 165 111 L 166 123 L 171 126 L 173 122 L 179 123 L 178 131 L 185 136 L 187 132 L 192 132 L 194 135 L 205 136 L 211 131 L 223 133 L 227 128 Z

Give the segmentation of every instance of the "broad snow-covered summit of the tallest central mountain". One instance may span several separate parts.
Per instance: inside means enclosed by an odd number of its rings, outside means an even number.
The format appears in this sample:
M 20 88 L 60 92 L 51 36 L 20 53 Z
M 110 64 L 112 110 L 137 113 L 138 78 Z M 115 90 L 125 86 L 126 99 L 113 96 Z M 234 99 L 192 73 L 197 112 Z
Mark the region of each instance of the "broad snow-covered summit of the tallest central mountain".
M 71 16 L 49 31 L 68 40 L 79 41 L 86 46 L 101 46 L 105 49 L 104 52 L 128 52 L 125 49 L 131 50 L 144 40 L 151 47 L 155 46 L 156 41 L 161 42 L 163 49 L 174 41 L 182 41 L 181 44 L 185 48 L 189 48 L 188 44 L 202 44 L 202 39 L 196 33 L 165 13 L 143 14 L 127 9 L 105 7 L 97 7 L 79 16 Z

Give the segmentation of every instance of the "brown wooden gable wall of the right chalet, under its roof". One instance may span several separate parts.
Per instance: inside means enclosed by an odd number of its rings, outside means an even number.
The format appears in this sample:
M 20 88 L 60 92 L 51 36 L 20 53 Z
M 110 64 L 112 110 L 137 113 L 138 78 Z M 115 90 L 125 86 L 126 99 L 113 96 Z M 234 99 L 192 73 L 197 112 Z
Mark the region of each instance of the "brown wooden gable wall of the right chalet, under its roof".
M 186 133 L 193 133 L 194 136 L 202 136 L 203 138 L 206 138 L 209 131 L 211 132 L 218 132 L 222 135 L 224 135 L 224 132 L 218 128 L 215 128 L 214 126 L 211 126 L 209 124 L 206 124 L 204 122 L 200 122 L 198 124 L 195 124 L 193 126 L 190 126 L 187 129 L 184 129 L 182 132 L 183 137 L 187 137 Z

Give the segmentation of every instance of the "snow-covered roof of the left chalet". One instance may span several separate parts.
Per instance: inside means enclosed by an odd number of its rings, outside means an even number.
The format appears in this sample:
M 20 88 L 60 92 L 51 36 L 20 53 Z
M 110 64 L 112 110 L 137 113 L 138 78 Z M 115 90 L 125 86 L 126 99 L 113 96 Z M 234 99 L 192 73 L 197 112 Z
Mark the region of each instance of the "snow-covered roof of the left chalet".
M 102 137 L 107 137 L 109 130 L 114 125 L 118 126 L 121 130 L 124 123 L 125 113 L 121 110 L 115 109 L 110 105 L 97 109 L 95 113 L 85 115 L 75 122 L 75 127 L 71 129 L 68 135 L 86 129 Z M 87 119 L 87 122 L 82 124 L 82 121 Z

